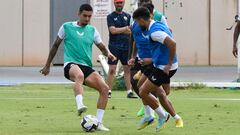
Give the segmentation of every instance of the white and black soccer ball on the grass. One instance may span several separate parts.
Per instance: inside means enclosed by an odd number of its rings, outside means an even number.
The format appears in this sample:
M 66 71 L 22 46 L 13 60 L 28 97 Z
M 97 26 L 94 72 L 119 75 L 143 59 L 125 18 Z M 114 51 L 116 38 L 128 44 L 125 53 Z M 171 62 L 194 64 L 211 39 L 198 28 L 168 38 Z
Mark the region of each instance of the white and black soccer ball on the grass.
M 86 115 L 81 120 L 81 126 L 84 131 L 86 132 L 94 132 L 97 130 L 98 127 L 98 120 L 96 116 L 93 115 Z

